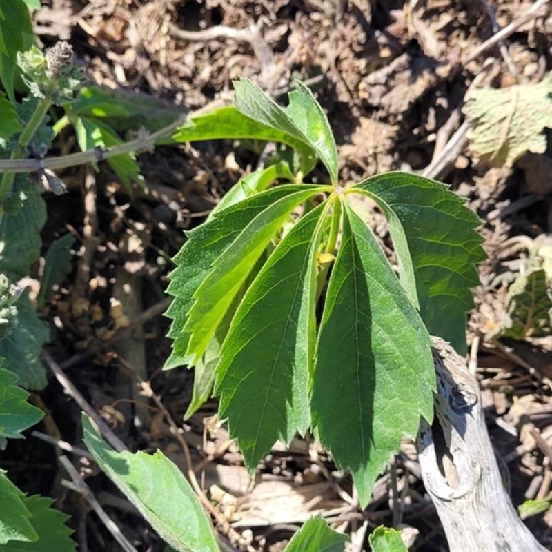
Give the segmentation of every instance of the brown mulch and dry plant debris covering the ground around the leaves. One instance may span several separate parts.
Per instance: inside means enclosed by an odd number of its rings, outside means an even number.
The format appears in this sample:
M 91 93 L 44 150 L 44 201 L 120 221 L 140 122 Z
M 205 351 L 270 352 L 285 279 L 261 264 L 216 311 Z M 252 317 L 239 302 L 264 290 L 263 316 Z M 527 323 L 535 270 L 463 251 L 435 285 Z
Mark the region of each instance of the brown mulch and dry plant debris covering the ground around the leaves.
M 538 159 L 512 168 L 490 168 L 461 148 L 438 170 L 432 160 L 463 121 L 464 95 L 480 84 L 505 88 L 537 83 L 552 68 L 552 17 L 546 9 L 471 59 L 475 50 L 522 17 L 530 1 L 468 0 L 46 0 L 34 14 L 45 46 L 70 41 L 91 81 L 145 105 L 193 112 L 226 100 L 233 79 L 248 77 L 285 101 L 293 79 L 317 94 L 335 131 L 344 183 L 386 170 L 414 170 L 442 179 L 466 198 L 482 219 L 489 259 L 468 325 L 489 433 L 517 506 L 551 492 L 552 341 L 526 331 L 499 339 L 511 315 L 510 286 L 549 245 L 552 142 Z M 493 30 L 493 23 L 495 30 Z M 238 32 L 239 31 L 239 32 Z M 160 449 L 183 471 L 186 447 L 199 484 L 210 493 L 217 529 L 229 549 L 279 551 L 313 513 L 334 529 L 368 533 L 377 525 L 408 526 L 411 550 L 446 551 L 435 509 L 424 491 L 415 450 L 401 455 L 375 485 L 372 502 L 359 509 L 348 474 L 311 441 L 275 446 L 251 482 L 242 457 L 208 402 L 190 420 L 193 373 L 161 371 L 169 355 L 164 288 L 170 257 L 184 243 L 182 230 L 200 224 L 258 157 L 231 141 L 163 146 L 139 156 L 149 193 L 125 195 L 108 166 L 61 173 L 69 193 L 48 197 L 45 250 L 67 230 L 81 236 L 75 270 L 43 313 L 52 323 L 50 355 L 68 379 L 132 450 Z M 70 132 L 57 149 L 75 148 Z M 313 181 L 324 181 L 315 170 Z M 92 199 L 92 202 L 87 201 Z M 374 214 L 385 243 L 386 226 Z M 120 302 L 132 321 L 145 321 L 121 337 L 112 311 Z M 148 310 L 149 309 L 149 310 Z M 145 313 L 145 314 L 144 314 Z M 120 322 L 120 321 L 119 321 Z M 118 334 L 119 333 L 119 334 Z M 543 333 L 543 332 L 541 332 Z M 113 339 L 119 335 L 117 339 Z M 137 393 L 148 382 L 163 408 Z M 34 396 L 47 416 L 34 429 L 75 446 L 81 442 L 81 409 L 53 377 Z M 166 411 L 179 429 L 167 423 Z M 66 477 L 57 449 L 37 437 L 10 442 L 0 466 L 29 493 L 50 495 L 72 515 L 81 551 L 118 545 L 79 496 L 61 485 Z M 79 456 L 73 457 L 79 463 Z M 139 551 L 164 544 L 130 502 L 92 466 L 92 491 Z M 367 524 L 365 524 L 367 522 Z M 552 546 L 552 509 L 526 523 Z M 369 549 L 367 541 L 356 550 Z

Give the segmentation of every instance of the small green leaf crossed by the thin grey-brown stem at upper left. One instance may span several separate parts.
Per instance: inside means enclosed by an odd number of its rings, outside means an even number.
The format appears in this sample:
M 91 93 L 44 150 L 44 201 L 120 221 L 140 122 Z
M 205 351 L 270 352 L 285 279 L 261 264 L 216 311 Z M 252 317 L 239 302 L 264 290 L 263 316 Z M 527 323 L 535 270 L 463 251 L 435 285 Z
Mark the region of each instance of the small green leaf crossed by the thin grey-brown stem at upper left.
M 88 119 L 88 117 L 75 117 L 72 120 L 75 124 L 79 147 L 83 151 L 94 148 L 110 148 L 123 143 L 123 140 L 117 136 L 112 128 L 100 121 Z M 146 188 L 144 177 L 140 174 L 140 168 L 133 153 L 108 157 L 107 162 L 127 190 L 132 191 L 130 179 L 142 188 Z

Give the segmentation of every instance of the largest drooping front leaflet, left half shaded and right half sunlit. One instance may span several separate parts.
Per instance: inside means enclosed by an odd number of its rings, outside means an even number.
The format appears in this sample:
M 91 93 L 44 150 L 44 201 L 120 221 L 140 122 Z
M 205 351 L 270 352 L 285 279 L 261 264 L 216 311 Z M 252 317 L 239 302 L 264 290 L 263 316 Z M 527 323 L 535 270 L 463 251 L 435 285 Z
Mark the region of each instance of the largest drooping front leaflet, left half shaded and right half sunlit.
M 344 201 L 342 244 L 331 274 L 311 393 L 313 424 L 366 506 L 373 482 L 433 417 L 430 337 L 362 219 Z

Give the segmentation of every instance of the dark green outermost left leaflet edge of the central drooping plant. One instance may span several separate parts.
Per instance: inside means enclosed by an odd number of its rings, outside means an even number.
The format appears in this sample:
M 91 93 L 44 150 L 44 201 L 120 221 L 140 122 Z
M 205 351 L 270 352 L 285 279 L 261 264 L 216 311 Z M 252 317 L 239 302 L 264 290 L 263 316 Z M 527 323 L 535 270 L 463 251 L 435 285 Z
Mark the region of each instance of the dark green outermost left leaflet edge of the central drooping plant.
M 319 190 L 318 186 L 310 188 L 313 195 Z M 174 341 L 172 354 L 165 363 L 166 369 L 189 364 L 195 357 L 186 353 L 190 334 L 184 331 L 184 326 L 188 319 L 188 311 L 194 303 L 195 292 L 211 272 L 213 262 L 235 242 L 242 230 L 257 215 L 263 213 L 275 201 L 305 189 L 305 185 L 271 188 L 217 212 L 210 221 L 187 233 L 188 242 L 173 259 L 177 268 L 169 275 L 167 293 L 175 299 L 166 316 L 172 318 L 168 337 Z

